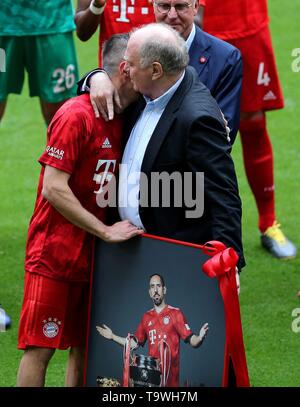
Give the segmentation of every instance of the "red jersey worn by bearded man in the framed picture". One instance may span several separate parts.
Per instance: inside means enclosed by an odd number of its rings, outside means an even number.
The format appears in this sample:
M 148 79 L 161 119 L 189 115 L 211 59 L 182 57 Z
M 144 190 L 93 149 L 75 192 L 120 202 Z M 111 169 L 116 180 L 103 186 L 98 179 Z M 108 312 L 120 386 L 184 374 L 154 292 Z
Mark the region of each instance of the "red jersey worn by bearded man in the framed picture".
M 149 355 L 155 358 L 160 357 L 161 341 L 168 344 L 171 366 L 167 386 L 179 386 L 180 338 L 188 341 L 192 334 L 179 308 L 167 305 L 159 314 L 153 308 L 143 315 L 135 333 L 139 344 L 144 345 L 148 340 Z

